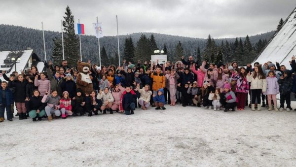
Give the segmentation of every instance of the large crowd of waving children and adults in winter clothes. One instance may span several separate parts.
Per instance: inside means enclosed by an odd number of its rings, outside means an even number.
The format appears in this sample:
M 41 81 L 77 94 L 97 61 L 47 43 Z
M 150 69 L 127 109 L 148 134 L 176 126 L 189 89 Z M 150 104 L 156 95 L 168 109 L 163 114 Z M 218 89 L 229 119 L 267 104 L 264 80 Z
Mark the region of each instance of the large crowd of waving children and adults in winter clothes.
M 89 83 L 93 90 L 78 88 L 76 79 L 81 72 L 61 65 L 44 62 L 40 73 L 36 66 L 27 71 L 13 71 L 10 76 L 2 70 L 0 91 L 0 122 L 13 121 L 16 106 L 20 120 L 32 118 L 48 121 L 68 116 L 88 116 L 121 112 L 134 114 L 136 108 L 165 110 L 165 105 L 205 107 L 235 111 L 248 106 L 255 111 L 267 107 L 269 111 L 291 111 L 291 92 L 296 93 L 296 57 L 290 62 L 291 70 L 277 62 L 254 63 L 239 67 L 237 62 L 213 64 L 203 61 L 198 65 L 192 56 L 182 60 L 158 64 L 158 61 L 123 60 L 121 66 L 90 64 Z M 262 62 L 261 62 L 262 63 Z M 290 67 L 289 67 L 290 68 Z M 280 106 L 276 95 L 280 94 Z M 250 102 L 248 96 L 250 95 Z M 262 107 L 262 108 L 261 108 Z

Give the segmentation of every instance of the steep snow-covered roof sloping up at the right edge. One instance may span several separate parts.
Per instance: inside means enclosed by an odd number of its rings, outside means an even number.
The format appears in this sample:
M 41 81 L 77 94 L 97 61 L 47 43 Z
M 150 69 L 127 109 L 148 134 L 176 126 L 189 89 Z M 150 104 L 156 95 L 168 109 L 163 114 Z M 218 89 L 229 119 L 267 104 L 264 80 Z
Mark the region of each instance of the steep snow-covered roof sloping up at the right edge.
M 253 62 L 260 64 L 271 61 L 275 64 L 285 65 L 291 69 L 289 61 L 296 55 L 296 8 L 285 20 L 283 27 L 275 33 L 270 39 L 267 46 L 260 53 L 259 57 Z

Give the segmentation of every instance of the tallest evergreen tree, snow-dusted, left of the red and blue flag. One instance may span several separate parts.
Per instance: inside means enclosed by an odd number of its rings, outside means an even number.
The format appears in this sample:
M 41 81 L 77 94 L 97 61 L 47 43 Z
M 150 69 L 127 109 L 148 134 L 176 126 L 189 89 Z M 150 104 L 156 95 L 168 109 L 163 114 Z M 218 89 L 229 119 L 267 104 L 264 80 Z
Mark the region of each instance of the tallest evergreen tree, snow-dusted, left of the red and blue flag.
M 79 60 L 79 39 L 74 31 L 74 16 L 69 6 L 66 8 L 66 16 L 63 16 L 64 52 L 69 67 L 75 67 Z

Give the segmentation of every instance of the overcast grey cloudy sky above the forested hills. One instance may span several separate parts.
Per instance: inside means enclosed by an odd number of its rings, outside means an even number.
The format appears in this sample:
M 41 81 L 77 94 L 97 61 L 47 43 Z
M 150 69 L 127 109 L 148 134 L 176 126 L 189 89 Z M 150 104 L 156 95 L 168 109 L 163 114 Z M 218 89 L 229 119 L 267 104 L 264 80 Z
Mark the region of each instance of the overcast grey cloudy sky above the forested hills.
M 70 6 L 85 33 L 103 23 L 104 35 L 153 32 L 206 38 L 237 37 L 275 30 L 296 7 L 295 0 L 0 0 L 0 24 L 61 31 Z

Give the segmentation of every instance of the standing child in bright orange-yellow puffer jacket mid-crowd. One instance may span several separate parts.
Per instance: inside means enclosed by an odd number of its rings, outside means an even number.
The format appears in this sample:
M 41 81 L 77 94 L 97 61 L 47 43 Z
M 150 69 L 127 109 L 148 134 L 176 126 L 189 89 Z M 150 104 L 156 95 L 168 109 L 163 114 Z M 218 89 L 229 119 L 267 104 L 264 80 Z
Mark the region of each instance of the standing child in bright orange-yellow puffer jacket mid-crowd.
M 153 66 L 151 66 L 151 71 L 153 71 Z M 156 71 L 150 72 L 150 77 L 153 80 L 153 83 L 152 83 L 153 94 L 156 95 L 158 89 L 165 87 L 165 76 L 161 72 L 161 67 L 157 66 Z

